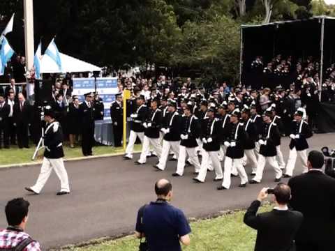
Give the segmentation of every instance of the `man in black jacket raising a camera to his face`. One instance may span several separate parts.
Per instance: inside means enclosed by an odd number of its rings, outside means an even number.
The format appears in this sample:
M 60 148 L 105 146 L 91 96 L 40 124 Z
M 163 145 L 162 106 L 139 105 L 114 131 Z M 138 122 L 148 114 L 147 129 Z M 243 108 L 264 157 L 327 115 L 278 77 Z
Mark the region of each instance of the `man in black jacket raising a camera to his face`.
M 262 201 L 269 195 L 269 188 L 263 188 L 246 211 L 244 223 L 258 230 L 255 251 L 293 251 L 295 235 L 304 217 L 300 212 L 288 209 L 291 197 L 288 185 L 278 184 L 272 192 L 274 210 L 257 214 Z

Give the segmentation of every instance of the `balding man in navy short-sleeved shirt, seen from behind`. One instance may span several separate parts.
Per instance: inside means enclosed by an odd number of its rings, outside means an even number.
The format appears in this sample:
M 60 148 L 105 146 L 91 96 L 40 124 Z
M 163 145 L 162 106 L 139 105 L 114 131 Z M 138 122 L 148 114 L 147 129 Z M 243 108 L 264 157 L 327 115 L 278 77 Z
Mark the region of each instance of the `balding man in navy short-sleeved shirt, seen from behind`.
M 155 184 L 157 200 L 137 213 L 137 238 L 146 238 L 150 251 L 181 251 L 180 243 L 190 245 L 191 227 L 184 213 L 170 205 L 172 184 L 161 179 Z

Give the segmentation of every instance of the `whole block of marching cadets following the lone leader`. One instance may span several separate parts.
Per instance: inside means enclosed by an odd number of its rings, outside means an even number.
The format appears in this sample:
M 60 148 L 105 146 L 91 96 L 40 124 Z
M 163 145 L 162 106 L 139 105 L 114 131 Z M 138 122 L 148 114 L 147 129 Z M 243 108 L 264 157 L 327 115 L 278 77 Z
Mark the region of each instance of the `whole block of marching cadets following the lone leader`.
M 267 108 L 262 109 L 258 91 L 241 87 L 224 97 L 221 91 L 224 90 L 218 87 L 207 98 L 198 89 L 188 93 L 187 84 L 176 98 L 171 93 L 146 98 L 135 91 L 128 100 L 131 132 L 124 159 L 133 159 L 138 137 L 142 153 L 135 165 L 144 165 L 148 156 L 156 155 L 158 162 L 154 168 L 164 171 L 169 155 L 173 155 L 170 160 L 177 160 L 177 166 L 172 176 L 184 176 L 185 166 L 193 165 L 193 181 L 204 183 L 207 172 L 214 171 L 214 181 L 222 182 L 218 190 L 230 189 L 232 176 L 239 176 L 240 188 L 248 183 L 261 183 L 267 164 L 274 168 L 275 182 L 293 175 L 297 158 L 307 172 L 307 139 L 313 132 L 306 121 L 305 109 L 299 107 L 293 112 L 290 125 L 285 125 L 288 129 L 277 115 L 279 109 L 285 109 L 280 106 L 290 101 L 290 92 L 280 96 L 278 93 L 285 91 L 276 89 L 271 95 L 274 100 L 269 100 Z M 121 96 L 119 93 L 118 97 Z M 121 98 L 112 107 L 117 104 L 122 108 Z M 281 137 L 285 136 L 291 138 L 286 164 L 281 153 Z M 251 169 L 246 170 L 246 165 Z

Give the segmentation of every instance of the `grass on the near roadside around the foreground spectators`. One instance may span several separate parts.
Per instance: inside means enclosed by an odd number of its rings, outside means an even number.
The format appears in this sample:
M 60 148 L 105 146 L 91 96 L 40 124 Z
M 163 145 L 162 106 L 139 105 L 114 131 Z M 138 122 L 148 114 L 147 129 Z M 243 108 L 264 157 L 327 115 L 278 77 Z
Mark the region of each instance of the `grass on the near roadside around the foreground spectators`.
M 263 206 L 261 211 L 269 211 Z M 218 218 L 191 222 L 191 245 L 186 251 L 251 251 L 255 245 L 256 231 L 243 223 L 245 211 L 238 211 Z M 83 248 L 68 247 L 70 251 L 137 251 L 139 241 L 127 236 L 113 241 L 100 241 Z

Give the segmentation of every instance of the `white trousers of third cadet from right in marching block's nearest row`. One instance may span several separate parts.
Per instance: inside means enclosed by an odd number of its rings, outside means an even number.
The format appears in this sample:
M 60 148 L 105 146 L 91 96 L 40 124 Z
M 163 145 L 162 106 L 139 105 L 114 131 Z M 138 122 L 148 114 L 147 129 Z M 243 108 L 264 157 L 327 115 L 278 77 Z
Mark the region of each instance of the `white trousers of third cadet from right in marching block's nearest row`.
M 230 157 L 225 156 L 225 172 L 223 176 L 222 186 L 229 189 L 231 183 L 232 168 L 237 169 L 239 177 L 241 178 L 241 184 L 248 183 L 248 176 L 246 175 L 246 170 L 242 165 L 242 158 L 232 159 Z

